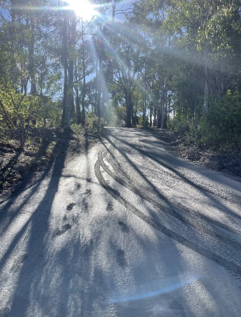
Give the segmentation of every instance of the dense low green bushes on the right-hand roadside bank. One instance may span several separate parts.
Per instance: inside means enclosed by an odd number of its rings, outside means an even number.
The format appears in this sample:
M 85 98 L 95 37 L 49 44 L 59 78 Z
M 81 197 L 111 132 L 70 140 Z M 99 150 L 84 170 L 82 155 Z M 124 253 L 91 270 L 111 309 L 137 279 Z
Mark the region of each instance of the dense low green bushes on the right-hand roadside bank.
M 207 115 L 197 123 L 179 117 L 170 119 L 167 126 L 182 134 L 187 144 L 240 152 L 241 95 L 229 90 L 222 99 L 211 104 Z

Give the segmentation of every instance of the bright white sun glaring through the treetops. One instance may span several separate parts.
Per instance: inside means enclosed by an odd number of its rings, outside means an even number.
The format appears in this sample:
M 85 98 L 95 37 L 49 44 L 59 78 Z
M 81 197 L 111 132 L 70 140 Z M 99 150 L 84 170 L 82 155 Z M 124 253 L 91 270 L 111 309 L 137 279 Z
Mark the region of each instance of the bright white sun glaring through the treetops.
M 98 5 L 90 3 L 88 0 L 67 0 L 69 10 L 74 10 L 77 16 L 82 17 L 84 21 L 90 21 L 93 16 L 98 15 L 96 9 Z

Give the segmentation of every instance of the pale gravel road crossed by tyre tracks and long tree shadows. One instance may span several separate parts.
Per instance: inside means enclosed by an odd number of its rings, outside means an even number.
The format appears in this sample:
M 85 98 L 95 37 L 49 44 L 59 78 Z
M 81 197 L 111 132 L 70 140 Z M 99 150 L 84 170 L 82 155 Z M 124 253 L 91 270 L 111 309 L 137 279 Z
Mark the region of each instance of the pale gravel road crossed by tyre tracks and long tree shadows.
M 241 183 L 104 139 L 0 205 L 0 317 L 240 317 Z

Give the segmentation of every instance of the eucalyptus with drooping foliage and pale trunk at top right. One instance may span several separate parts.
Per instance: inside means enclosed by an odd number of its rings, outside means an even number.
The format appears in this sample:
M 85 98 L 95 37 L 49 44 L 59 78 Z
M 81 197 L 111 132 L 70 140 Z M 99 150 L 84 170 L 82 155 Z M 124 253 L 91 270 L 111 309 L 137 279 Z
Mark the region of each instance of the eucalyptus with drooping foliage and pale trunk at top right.
M 221 97 L 235 72 L 230 68 L 230 58 L 237 57 L 237 44 L 240 43 L 240 2 L 174 1 L 167 24 L 169 28 L 182 30 L 182 44 L 197 56 L 204 82 L 203 112 L 207 113 L 209 96 L 212 100 Z

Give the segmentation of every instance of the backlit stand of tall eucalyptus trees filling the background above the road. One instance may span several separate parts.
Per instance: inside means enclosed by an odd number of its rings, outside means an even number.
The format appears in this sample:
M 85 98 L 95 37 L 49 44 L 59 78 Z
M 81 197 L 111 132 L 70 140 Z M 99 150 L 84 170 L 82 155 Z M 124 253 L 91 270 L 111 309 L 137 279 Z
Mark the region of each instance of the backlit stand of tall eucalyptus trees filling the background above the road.
M 0 6 L 0 124 L 21 148 L 31 125 L 69 129 L 90 114 L 98 132 L 100 122 L 194 126 L 202 142 L 240 151 L 240 1 Z

